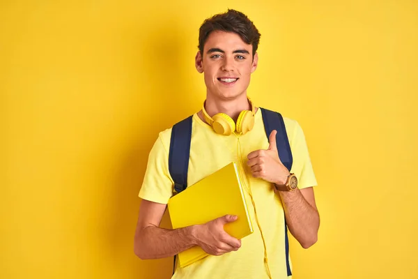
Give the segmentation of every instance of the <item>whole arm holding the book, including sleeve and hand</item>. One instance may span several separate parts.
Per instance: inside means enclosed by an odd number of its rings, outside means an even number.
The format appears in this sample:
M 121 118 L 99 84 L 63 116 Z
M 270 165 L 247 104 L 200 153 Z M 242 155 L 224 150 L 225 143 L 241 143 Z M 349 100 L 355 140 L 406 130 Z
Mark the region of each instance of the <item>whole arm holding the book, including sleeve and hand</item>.
M 203 225 L 179 229 L 160 227 L 167 201 L 173 195 L 168 156 L 159 136 L 148 156 L 144 183 L 139 193 L 142 202 L 134 236 L 135 254 L 141 259 L 171 257 L 196 245 L 210 255 L 238 250 L 241 241 L 224 231 L 224 225 L 236 220 L 236 216 L 223 216 Z

